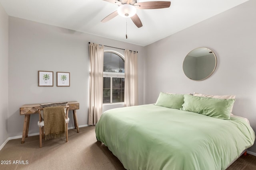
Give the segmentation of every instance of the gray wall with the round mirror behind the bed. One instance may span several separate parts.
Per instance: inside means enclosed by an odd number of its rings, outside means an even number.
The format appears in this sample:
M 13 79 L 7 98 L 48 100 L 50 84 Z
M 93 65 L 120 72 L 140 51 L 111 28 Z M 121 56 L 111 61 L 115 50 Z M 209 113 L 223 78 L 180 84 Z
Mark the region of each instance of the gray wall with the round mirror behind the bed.
M 247 117 L 256 131 L 256 1 L 250 0 L 146 46 L 145 104 L 159 92 L 236 95 L 233 113 Z M 198 47 L 212 49 L 215 72 L 193 81 L 182 71 L 184 57 Z M 256 145 L 249 149 L 256 152 Z

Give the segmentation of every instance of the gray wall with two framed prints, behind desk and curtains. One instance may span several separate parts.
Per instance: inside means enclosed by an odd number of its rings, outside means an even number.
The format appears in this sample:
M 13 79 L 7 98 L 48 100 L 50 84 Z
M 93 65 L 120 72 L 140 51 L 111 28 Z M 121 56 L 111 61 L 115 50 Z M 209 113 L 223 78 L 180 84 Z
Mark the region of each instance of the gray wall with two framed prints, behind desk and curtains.
M 22 135 L 24 104 L 78 101 L 79 126 L 87 125 L 89 95 L 88 42 L 138 51 L 139 104 L 143 104 L 144 47 L 9 17 L 8 134 Z M 114 49 L 113 49 L 114 50 Z M 38 70 L 54 72 L 53 87 L 38 87 Z M 56 86 L 56 72 L 70 72 L 70 87 Z M 70 113 L 69 127 L 74 127 Z M 38 115 L 31 115 L 29 134 L 38 133 Z

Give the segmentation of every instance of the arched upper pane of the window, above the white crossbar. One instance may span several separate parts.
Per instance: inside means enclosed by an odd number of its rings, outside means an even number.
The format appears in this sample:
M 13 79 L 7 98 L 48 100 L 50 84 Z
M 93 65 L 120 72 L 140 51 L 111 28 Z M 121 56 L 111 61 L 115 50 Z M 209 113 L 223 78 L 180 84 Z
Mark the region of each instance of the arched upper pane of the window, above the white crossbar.
M 104 53 L 103 71 L 124 73 L 124 59 L 116 53 Z

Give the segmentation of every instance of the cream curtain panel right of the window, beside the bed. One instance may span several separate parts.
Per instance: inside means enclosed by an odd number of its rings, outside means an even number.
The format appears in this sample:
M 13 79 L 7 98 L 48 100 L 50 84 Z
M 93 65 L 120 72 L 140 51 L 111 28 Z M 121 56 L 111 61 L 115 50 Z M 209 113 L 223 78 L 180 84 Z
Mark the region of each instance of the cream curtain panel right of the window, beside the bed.
M 124 106 L 138 105 L 137 53 L 124 51 Z

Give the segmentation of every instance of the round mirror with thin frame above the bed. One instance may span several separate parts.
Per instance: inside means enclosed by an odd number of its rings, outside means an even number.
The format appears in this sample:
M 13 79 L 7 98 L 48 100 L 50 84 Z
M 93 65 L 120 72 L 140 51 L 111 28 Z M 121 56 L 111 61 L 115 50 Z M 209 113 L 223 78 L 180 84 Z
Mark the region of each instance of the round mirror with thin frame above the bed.
M 194 49 L 183 61 L 183 72 L 192 80 L 204 80 L 214 72 L 216 63 L 216 56 L 212 50 L 204 47 Z

